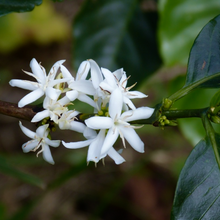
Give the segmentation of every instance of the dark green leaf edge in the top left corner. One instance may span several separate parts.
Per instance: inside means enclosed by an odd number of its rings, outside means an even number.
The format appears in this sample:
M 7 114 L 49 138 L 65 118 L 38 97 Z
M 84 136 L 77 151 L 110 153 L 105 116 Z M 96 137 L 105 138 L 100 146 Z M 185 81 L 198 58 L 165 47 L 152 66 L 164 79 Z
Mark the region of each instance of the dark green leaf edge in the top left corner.
M 0 2 L 0 17 L 11 12 L 32 11 L 42 0 L 3 0 Z

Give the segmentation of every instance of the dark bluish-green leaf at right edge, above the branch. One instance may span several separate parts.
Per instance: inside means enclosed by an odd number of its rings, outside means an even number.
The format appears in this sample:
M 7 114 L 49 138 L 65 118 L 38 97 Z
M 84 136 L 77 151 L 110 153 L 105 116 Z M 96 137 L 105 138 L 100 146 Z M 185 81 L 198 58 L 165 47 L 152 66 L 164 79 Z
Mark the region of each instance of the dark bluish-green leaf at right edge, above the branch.
M 186 83 L 187 87 L 199 80 L 207 81 L 198 87 L 219 87 L 220 76 L 214 77 L 220 72 L 220 16 L 212 19 L 196 38 L 190 52 Z

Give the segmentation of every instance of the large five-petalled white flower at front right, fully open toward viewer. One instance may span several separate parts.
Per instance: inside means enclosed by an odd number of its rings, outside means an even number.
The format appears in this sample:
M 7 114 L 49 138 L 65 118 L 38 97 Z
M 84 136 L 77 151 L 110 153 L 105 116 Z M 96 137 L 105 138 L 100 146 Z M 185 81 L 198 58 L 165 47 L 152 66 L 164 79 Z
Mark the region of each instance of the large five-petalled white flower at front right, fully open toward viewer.
M 128 122 L 149 118 L 154 109 L 140 108 L 122 113 L 123 95 L 119 88 L 115 89 L 109 101 L 110 117 L 94 116 L 85 120 L 86 125 L 92 129 L 108 129 L 102 145 L 101 155 L 107 154 L 116 142 L 118 136 L 122 138 L 125 146 L 125 139 L 138 152 L 144 152 L 144 143 L 134 130 L 134 126 Z

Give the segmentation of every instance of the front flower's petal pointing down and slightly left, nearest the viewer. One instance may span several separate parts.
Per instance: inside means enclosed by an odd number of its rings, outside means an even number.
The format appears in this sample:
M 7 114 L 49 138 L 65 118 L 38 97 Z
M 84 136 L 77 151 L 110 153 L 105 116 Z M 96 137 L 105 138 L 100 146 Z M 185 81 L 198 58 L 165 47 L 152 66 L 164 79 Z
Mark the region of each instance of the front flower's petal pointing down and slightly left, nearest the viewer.
M 101 155 L 106 154 L 109 151 L 109 149 L 116 142 L 118 135 L 119 135 L 118 129 L 115 129 L 115 130 L 113 130 L 113 128 L 109 129 L 109 131 L 105 137 L 105 141 L 102 145 Z

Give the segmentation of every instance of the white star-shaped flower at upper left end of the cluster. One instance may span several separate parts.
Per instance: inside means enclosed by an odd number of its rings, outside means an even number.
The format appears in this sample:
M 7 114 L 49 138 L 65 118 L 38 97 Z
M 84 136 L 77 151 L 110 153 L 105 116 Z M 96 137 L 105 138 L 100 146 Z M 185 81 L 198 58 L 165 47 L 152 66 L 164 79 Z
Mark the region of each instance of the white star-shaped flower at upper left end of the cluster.
M 33 73 L 29 73 L 24 71 L 27 75 L 32 76 L 36 79 L 37 82 L 32 82 L 29 80 L 20 80 L 20 79 L 12 79 L 9 84 L 11 86 L 19 87 L 22 89 L 31 90 L 29 94 L 24 96 L 19 102 L 18 106 L 23 107 L 27 104 L 30 104 L 40 97 L 42 97 L 44 94 L 46 96 L 50 97 L 53 100 L 56 100 L 58 96 L 61 94 L 61 91 L 59 89 L 53 88 L 56 84 L 62 83 L 67 81 L 67 79 L 55 79 L 55 76 L 57 74 L 57 70 L 61 66 L 61 64 L 65 60 L 60 60 L 56 62 L 48 75 L 46 75 L 45 69 L 38 64 L 36 59 L 32 59 L 30 62 L 30 67 Z

